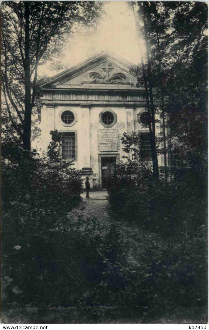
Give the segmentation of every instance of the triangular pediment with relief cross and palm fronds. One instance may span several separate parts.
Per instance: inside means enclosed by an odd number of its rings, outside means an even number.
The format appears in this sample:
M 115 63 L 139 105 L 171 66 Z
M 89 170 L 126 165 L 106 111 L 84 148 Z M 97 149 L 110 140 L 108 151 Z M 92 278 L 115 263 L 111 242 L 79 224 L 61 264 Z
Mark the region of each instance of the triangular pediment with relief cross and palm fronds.
M 95 85 L 96 87 L 98 85 L 108 88 L 108 85 L 113 84 L 136 86 L 137 77 L 130 72 L 130 65 L 101 54 L 61 72 L 43 87 L 75 88 L 78 86 L 79 88 L 79 86 Z

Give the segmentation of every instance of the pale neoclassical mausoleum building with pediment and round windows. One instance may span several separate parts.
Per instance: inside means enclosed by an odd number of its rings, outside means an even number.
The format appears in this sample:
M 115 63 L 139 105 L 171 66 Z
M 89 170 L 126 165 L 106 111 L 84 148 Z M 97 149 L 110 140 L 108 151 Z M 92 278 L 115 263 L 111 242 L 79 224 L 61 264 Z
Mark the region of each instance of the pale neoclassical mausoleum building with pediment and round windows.
M 127 63 L 102 53 L 59 73 L 42 91 L 42 148 L 51 141 L 50 131 L 62 132 L 63 158 L 73 161 L 83 179 L 89 176 L 91 187 L 107 188 L 114 164 L 125 155 L 124 132 L 140 134 L 142 157 L 151 159 L 145 90 Z

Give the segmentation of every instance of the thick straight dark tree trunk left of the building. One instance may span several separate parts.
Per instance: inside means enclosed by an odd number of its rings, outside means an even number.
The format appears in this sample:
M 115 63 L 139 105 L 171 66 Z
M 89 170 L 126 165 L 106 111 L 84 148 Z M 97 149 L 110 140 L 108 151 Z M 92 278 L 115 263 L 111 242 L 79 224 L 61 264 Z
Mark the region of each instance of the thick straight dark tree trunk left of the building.
M 25 7 L 25 115 L 24 115 L 24 124 L 23 124 L 23 147 L 26 150 L 31 149 L 31 82 L 30 82 L 30 39 L 29 39 L 29 1 L 24 2 Z

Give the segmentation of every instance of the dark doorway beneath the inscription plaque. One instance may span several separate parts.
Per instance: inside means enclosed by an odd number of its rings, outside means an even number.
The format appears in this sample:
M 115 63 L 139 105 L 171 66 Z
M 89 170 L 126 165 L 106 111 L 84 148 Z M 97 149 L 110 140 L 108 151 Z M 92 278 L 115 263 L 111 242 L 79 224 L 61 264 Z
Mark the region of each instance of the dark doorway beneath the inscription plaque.
M 107 189 L 114 172 L 116 157 L 102 157 L 102 188 Z

